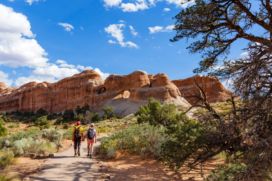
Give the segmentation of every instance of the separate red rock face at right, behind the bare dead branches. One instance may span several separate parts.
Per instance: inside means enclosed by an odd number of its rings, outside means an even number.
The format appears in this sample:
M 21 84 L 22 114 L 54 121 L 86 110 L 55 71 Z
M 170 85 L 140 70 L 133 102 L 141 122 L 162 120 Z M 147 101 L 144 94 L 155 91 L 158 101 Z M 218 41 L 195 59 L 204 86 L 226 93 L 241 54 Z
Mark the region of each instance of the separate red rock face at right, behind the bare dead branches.
M 230 91 L 227 90 L 222 83 L 216 77 L 202 76 L 197 74 L 187 79 L 173 80 L 173 82 L 179 89 L 181 95 L 185 95 L 191 91 L 197 91 L 194 86 L 194 78 L 200 86 L 203 86 L 203 91 L 207 95 L 208 102 L 224 102 L 230 98 Z M 186 98 L 188 102 L 193 101 L 193 98 Z

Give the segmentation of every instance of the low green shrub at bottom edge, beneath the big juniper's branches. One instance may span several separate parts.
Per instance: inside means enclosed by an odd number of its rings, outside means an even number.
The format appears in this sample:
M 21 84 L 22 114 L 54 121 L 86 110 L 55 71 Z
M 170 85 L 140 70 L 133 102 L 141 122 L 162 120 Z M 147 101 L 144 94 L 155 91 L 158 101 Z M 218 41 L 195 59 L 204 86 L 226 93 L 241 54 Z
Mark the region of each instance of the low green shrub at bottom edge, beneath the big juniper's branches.
M 221 163 L 216 166 L 216 170 L 212 170 L 210 175 L 205 179 L 205 181 L 233 181 L 240 180 L 242 176 L 242 171 L 246 170 L 247 166 L 245 163 L 236 163 L 231 166 L 225 167 Z

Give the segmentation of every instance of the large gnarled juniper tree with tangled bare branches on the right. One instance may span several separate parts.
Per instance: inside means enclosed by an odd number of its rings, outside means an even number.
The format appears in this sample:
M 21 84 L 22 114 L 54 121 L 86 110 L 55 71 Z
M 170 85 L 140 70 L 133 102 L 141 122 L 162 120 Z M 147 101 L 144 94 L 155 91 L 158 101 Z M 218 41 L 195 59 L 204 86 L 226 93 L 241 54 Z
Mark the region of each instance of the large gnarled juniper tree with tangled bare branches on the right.
M 183 3 L 191 0 L 185 0 Z M 203 60 L 194 73 L 209 72 L 221 81 L 228 81 L 234 93 L 233 109 L 226 117 L 219 116 L 206 102 L 201 86 L 199 92 L 187 96 L 201 100 L 191 102 L 210 112 L 203 122 L 215 120 L 206 127 L 202 152 L 193 156 L 193 168 L 211 156 L 230 149 L 230 154 L 241 152 L 256 160 L 247 167 L 242 177 L 271 165 L 272 144 L 272 3 L 269 0 L 195 0 L 195 4 L 175 16 L 176 35 L 170 41 L 194 39 L 187 47 L 190 53 L 201 53 Z M 258 4 L 259 8 L 256 8 Z M 252 29 L 259 32 L 253 33 Z M 231 46 L 239 39 L 247 40 L 243 46 L 245 57 L 228 59 Z M 221 68 L 216 69 L 216 67 Z M 199 83 L 201 84 L 201 82 Z M 235 95 L 243 101 L 237 107 Z M 262 165 L 263 164 L 263 165 Z

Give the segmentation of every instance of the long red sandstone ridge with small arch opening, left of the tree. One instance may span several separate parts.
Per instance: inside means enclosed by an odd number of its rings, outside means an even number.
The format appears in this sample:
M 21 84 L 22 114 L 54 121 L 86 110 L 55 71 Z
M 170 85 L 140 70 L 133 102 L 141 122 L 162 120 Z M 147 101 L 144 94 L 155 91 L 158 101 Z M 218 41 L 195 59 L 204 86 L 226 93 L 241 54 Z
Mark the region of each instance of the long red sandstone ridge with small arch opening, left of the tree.
M 189 105 L 179 96 L 180 91 L 166 74 L 147 75 L 137 70 L 128 75 L 110 75 L 105 81 L 94 70 L 62 79 L 56 83 L 30 82 L 20 88 L 6 88 L 0 82 L 0 111 L 31 111 L 39 108 L 47 112 L 61 112 L 85 103 L 92 112 L 102 113 L 102 108 L 111 106 L 117 115 L 128 115 L 156 101 Z

